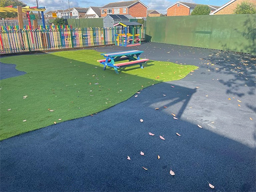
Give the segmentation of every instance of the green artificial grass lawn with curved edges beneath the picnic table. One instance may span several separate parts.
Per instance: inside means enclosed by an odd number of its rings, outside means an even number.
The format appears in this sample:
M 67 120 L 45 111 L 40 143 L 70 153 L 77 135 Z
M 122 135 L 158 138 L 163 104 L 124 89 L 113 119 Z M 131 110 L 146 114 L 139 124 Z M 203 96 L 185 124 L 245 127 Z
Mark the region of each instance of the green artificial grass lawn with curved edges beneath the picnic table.
M 1 80 L 0 140 L 54 122 L 95 114 L 130 98 L 140 89 L 181 79 L 197 69 L 150 61 L 144 69 L 133 66 L 116 75 L 108 67 L 102 70 L 103 66 L 96 61 L 102 58 L 94 50 L 2 58 L 2 62 L 14 63 L 17 70 L 27 74 Z

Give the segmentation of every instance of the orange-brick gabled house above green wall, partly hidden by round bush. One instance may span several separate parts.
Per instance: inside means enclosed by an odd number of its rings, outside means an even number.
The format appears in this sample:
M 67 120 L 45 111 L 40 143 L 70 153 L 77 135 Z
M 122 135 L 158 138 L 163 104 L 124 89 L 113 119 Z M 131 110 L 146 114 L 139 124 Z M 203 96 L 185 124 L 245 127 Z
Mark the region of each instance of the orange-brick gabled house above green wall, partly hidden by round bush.
M 190 15 L 195 7 L 200 4 L 177 2 L 176 4 L 167 8 L 167 16 L 181 16 L 181 15 Z M 208 5 L 211 12 L 216 11 L 219 6 Z

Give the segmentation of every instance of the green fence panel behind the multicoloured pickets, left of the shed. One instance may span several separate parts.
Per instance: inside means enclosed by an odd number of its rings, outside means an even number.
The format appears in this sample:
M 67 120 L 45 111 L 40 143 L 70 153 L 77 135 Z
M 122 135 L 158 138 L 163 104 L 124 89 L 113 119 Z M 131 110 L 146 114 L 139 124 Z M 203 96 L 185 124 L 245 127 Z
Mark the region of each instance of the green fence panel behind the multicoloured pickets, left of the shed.
M 50 23 L 53 21 L 54 19 L 50 19 Z M 67 21 L 73 28 L 103 27 L 103 18 L 68 18 Z

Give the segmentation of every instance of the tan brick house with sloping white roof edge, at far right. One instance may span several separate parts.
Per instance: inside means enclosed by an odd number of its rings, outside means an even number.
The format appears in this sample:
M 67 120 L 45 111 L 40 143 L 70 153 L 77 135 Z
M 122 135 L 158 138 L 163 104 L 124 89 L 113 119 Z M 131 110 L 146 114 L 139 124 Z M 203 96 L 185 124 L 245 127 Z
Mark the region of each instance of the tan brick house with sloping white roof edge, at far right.
M 234 9 L 236 9 L 237 5 L 241 4 L 244 1 L 250 2 L 256 6 L 255 0 L 231 0 L 228 3 L 224 4 L 223 6 L 221 6 L 219 9 L 210 13 L 210 15 L 233 14 Z

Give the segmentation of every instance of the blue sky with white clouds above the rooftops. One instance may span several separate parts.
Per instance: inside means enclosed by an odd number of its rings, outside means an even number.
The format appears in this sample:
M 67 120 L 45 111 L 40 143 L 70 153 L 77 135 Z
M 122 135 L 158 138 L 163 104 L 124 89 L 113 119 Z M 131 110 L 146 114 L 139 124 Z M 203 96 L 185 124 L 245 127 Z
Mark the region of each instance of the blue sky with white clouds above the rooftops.
M 36 0 L 21 0 L 23 3 L 28 6 L 36 6 Z M 113 2 L 120 2 L 121 0 L 38 0 L 39 7 L 46 7 L 46 12 L 52 10 L 62 10 L 73 7 L 103 7 L 106 4 Z M 125 1 L 125 0 L 123 0 Z M 155 9 L 162 14 L 165 14 L 166 9 L 172 5 L 174 5 L 177 0 L 140 0 L 143 4 L 145 4 L 149 9 Z M 196 3 L 196 4 L 207 4 L 207 5 L 215 5 L 222 6 L 225 3 L 229 2 L 229 0 L 181 0 L 180 2 L 187 3 Z M 63 8 L 62 8 L 63 7 Z

